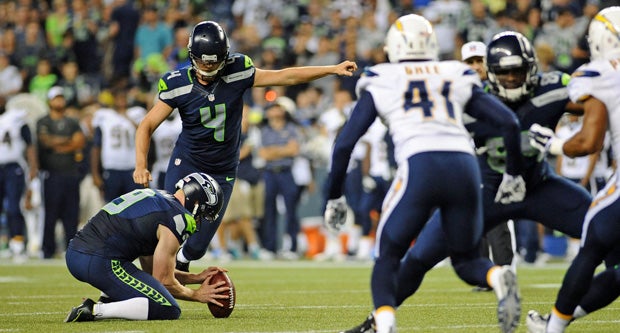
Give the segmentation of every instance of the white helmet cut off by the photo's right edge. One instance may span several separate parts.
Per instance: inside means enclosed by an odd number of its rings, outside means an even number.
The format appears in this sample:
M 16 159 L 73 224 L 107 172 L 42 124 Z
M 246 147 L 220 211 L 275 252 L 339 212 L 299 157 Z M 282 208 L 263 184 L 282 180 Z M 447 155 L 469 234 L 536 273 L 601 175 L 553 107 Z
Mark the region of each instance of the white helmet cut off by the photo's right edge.
M 588 29 L 590 59 L 610 59 L 620 55 L 620 7 L 607 7 L 592 19 Z

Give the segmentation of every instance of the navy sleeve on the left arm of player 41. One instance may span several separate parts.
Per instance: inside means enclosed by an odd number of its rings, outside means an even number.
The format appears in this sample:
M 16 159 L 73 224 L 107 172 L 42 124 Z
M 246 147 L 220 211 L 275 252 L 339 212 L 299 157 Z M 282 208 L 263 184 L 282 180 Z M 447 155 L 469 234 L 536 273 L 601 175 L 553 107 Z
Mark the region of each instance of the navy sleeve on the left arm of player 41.
M 332 167 L 327 177 L 328 199 L 342 196 L 351 152 L 359 138 L 366 133 L 376 118 L 377 109 L 372 95 L 364 91 L 351 112 L 350 119 L 344 124 L 336 138 L 332 152 Z

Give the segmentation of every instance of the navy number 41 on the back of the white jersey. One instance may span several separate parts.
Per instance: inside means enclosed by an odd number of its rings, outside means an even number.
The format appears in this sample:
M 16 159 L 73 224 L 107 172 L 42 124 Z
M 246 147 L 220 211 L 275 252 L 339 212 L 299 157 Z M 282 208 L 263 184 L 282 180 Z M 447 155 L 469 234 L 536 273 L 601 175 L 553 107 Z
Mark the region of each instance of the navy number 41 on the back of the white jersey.
M 452 82 L 446 81 L 441 88 L 441 96 L 443 97 L 443 103 L 445 104 L 445 110 L 448 113 L 450 119 L 454 117 L 454 106 L 450 102 L 450 86 Z M 435 101 L 428 94 L 428 87 L 426 81 L 410 81 L 409 89 L 405 92 L 405 110 L 413 108 L 421 108 L 425 118 L 433 117 L 433 109 L 435 108 Z

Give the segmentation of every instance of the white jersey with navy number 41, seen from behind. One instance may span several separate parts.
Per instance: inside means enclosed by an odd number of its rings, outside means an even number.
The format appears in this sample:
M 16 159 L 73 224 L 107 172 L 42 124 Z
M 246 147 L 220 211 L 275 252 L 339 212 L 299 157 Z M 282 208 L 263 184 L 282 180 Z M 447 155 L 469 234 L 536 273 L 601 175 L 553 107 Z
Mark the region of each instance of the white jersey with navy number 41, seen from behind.
M 425 151 L 474 153 L 462 116 L 472 88 L 482 84 L 469 66 L 458 61 L 386 63 L 365 74 L 358 92 L 372 94 L 390 128 L 398 163 Z

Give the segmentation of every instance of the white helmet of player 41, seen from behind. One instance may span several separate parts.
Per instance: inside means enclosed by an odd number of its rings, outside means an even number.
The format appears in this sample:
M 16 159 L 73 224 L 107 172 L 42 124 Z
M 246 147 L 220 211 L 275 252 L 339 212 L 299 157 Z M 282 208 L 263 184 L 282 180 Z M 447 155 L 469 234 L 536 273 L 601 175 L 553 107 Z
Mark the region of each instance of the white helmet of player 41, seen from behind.
M 433 26 L 416 14 L 401 16 L 392 24 L 385 37 L 384 50 L 392 63 L 439 59 L 439 45 Z

